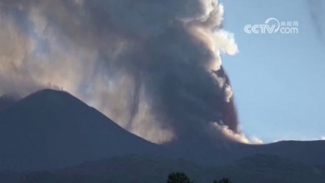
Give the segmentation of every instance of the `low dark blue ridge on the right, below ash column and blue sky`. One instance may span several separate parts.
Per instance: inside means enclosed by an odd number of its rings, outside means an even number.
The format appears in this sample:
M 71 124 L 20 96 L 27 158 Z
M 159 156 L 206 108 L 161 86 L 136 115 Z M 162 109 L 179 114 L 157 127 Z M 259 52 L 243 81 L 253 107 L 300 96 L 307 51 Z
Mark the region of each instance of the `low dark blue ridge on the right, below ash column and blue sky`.
M 325 165 L 325 140 L 279 141 L 253 145 L 229 139 L 211 142 L 196 138 L 197 141 L 174 141 L 164 146 L 177 152 L 178 157 L 204 166 L 225 165 L 255 154 L 270 154 L 310 165 Z

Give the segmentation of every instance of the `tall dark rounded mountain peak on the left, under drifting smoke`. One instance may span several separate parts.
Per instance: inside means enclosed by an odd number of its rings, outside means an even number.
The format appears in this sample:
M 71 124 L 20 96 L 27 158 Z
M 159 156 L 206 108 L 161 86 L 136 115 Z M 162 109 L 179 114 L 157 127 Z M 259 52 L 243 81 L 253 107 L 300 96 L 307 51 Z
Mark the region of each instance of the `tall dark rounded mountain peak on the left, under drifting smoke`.
M 45 89 L 0 111 L 0 170 L 48 170 L 123 154 L 166 154 L 66 92 Z

